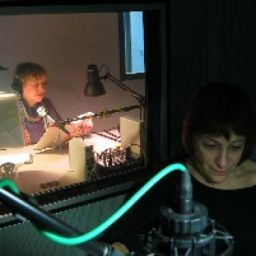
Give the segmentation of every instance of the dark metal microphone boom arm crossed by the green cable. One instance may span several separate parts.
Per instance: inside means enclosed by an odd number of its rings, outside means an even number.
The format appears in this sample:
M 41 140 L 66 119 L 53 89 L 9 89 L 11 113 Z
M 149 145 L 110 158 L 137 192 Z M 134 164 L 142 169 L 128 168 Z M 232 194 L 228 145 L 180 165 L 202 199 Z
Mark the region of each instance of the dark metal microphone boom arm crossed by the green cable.
M 58 218 L 54 218 L 47 211 L 39 208 L 32 199 L 28 198 L 26 194 L 18 195 L 3 188 L 0 189 L 0 201 L 11 210 L 14 210 L 17 218 L 22 220 L 27 218 L 39 229 L 49 230 L 54 234 L 65 237 L 75 237 L 82 234 L 80 231 L 75 230 L 74 227 L 68 226 Z M 124 256 L 118 250 L 114 250 L 112 246 L 102 242 L 88 241 L 77 246 L 82 252 L 93 256 Z

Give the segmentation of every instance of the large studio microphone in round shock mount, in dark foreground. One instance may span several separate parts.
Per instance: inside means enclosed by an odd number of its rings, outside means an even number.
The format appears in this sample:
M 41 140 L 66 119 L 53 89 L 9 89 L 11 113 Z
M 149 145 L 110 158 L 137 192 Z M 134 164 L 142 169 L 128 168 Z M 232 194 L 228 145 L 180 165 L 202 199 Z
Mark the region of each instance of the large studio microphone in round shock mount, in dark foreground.
M 182 172 L 178 192 L 178 209 L 162 207 L 160 225 L 150 232 L 152 252 L 163 250 L 167 251 L 164 255 L 171 256 L 232 256 L 233 236 L 209 218 L 206 206 L 193 201 L 190 171 Z

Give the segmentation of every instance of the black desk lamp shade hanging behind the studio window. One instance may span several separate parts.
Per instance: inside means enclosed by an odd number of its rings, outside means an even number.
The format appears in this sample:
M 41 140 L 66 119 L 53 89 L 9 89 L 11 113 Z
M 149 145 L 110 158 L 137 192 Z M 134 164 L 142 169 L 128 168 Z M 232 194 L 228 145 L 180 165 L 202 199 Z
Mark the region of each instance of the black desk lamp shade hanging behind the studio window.
M 99 77 L 98 66 L 90 64 L 87 68 L 87 83 L 84 95 L 87 97 L 97 97 L 103 94 L 106 94 L 106 90 Z

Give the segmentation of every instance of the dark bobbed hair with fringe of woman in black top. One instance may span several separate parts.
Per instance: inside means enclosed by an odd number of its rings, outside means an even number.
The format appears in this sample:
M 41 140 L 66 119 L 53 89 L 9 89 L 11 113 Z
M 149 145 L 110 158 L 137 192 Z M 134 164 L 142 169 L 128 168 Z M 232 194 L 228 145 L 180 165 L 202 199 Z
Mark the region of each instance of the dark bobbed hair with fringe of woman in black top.
M 249 96 L 241 87 L 223 82 L 208 82 L 192 98 L 182 127 L 182 144 L 192 160 L 198 161 L 195 138 L 210 134 L 227 140 L 233 132 L 246 137 L 240 162 L 254 146 L 255 119 Z

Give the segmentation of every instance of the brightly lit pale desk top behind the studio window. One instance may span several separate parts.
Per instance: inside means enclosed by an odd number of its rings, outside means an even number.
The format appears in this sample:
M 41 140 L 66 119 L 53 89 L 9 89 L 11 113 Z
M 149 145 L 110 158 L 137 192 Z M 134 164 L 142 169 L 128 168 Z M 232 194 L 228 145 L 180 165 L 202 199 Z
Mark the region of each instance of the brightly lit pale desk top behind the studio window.
M 94 146 L 94 151 L 101 153 L 110 147 L 118 145 L 118 131 L 112 133 L 102 132 L 86 136 L 84 142 Z M 29 153 L 33 162 L 18 166 L 16 177 L 13 178 L 18 189 L 27 194 L 55 190 L 60 187 L 70 186 L 74 183 L 85 182 L 79 171 L 70 169 L 69 143 L 58 148 L 48 150 L 34 150 L 34 146 L 7 149 L 1 155 Z

